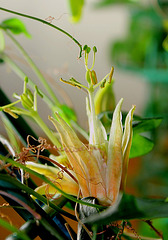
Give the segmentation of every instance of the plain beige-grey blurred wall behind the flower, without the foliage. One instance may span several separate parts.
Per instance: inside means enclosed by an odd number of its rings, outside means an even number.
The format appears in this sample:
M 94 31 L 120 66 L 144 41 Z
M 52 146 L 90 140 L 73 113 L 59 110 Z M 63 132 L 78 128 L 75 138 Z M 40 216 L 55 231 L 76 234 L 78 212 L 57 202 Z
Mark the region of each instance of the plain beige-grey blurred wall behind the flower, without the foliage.
M 137 106 L 136 113 L 140 114 L 148 98 L 148 86 L 141 76 L 122 69 L 119 70 L 111 56 L 111 45 L 113 42 L 117 39 L 125 38 L 128 33 L 131 21 L 130 8 L 132 7 L 130 5 L 117 4 L 98 8 L 95 5 L 96 3 L 97 1 L 92 0 L 85 1 L 81 19 L 75 24 L 71 22 L 68 1 L 50 0 L 46 3 L 45 0 L 37 0 L 35 2 L 1 0 L 1 7 L 42 19 L 52 16 L 54 18 L 53 24 L 72 34 L 82 45 L 87 44 L 90 47 L 96 45 L 98 53 L 96 55 L 95 70 L 98 79 L 101 80 L 110 71 L 111 66 L 114 66 L 116 99 L 124 98 L 123 109 L 125 110 L 128 110 L 132 104 L 135 104 Z M 16 16 L 3 11 L 0 12 L 0 21 L 10 17 Z M 61 87 L 71 97 L 79 122 L 86 129 L 85 93 L 59 81 L 60 77 L 69 79 L 73 76 L 79 82 L 85 82 L 85 67 L 83 59 L 78 59 L 79 49 L 77 45 L 62 33 L 48 26 L 26 18 L 21 18 L 21 20 L 26 24 L 32 38 L 28 39 L 24 35 L 19 35 L 17 40 L 29 53 L 41 71 L 49 76 L 48 79 L 53 84 L 56 94 L 59 96 Z M 37 77 L 25 65 L 19 52 L 13 47 L 12 42 L 8 38 L 6 39 L 6 49 L 19 62 L 28 76 L 39 86 Z M 19 94 L 22 91 L 23 83 L 5 64 L 1 65 L 0 68 L 0 81 L 1 87 L 11 100 L 13 92 Z M 39 102 L 39 111 L 43 119 L 48 123 L 47 117 L 49 112 L 47 112 L 45 104 L 40 104 Z

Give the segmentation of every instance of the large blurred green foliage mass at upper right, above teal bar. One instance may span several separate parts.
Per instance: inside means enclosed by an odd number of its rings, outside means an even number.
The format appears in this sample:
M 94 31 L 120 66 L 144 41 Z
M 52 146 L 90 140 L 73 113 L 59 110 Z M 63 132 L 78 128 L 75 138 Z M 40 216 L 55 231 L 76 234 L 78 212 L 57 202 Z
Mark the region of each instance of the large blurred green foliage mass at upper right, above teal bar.
M 143 74 L 151 82 L 167 82 L 166 21 L 152 7 L 133 9 L 130 21 L 125 39 L 111 45 L 113 62 Z

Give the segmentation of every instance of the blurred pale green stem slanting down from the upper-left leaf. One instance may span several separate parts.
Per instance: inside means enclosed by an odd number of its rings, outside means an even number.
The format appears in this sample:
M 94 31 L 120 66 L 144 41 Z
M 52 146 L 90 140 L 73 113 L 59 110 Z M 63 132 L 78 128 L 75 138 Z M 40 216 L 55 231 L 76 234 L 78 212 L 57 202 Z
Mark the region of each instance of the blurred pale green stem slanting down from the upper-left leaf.
M 60 102 L 58 101 L 57 97 L 55 96 L 55 93 L 53 92 L 52 88 L 48 85 L 46 79 L 44 76 L 41 74 L 40 70 L 38 67 L 35 65 L 33 60 L 30 58 L 30 56 L 27 54 L 27 52 L 24 50 L 24 48 L 20 45 L 20 43 L 10 34 L 8 31 L 6 31 L 7 35 L 11 38 L 11 40 L 15 43 L 15 45 L 18 47 L 18 49 L 21 51 L 31 68 L 34 70 L 42 84 L 44 85 L 45 89 L 49 93 L 49 95 L 52 97 L 54 100 L 55 104 L 60 105 Z

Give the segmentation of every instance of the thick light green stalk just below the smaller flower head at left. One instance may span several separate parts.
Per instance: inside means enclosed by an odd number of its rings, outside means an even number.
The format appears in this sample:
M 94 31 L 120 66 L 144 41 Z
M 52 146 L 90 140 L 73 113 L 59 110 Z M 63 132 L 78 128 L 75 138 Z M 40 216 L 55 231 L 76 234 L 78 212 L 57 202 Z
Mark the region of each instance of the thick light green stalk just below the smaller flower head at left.
M 54 134 L 50 131 L 50 129 L 47 127 L 47 125 L 43 122 L 38 112 L 33 111 L 32 115 L 33 119 L 36 121 L 38 126 L 44 131 L 46 136 L 50 139 L 50 141 L 57 147 L 61 148 L 60 142 L 57 140 L 57 138 L 54 136 Z

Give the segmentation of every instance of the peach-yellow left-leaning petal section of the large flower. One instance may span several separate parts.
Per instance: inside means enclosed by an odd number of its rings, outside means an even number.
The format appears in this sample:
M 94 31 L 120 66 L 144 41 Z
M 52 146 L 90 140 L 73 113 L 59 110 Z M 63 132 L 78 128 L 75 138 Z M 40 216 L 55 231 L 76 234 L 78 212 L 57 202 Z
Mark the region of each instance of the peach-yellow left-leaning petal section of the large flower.
M 104 195 L 105 186 L 100 174 L 101 169 L 93 155 L 94 151 L 89 150 L 79 140 L 73 129 L 57 113 L 56 116 L 59 122 L 53 118 L 50 120 L 60 133 L 65 153 L 76 174 L 83 197 Z

